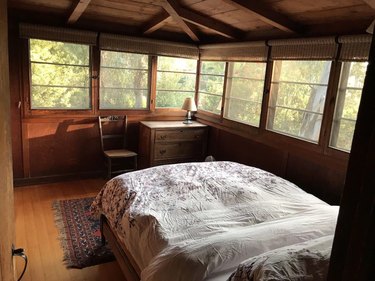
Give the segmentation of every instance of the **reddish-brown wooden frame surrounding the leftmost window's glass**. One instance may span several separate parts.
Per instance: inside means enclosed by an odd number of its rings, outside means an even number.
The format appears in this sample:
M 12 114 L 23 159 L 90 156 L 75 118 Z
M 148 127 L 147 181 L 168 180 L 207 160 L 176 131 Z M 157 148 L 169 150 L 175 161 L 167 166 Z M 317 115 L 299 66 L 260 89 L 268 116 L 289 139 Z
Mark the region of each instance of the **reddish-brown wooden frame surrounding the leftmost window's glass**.
M 21 46 L 21 49 L 23 50 L 24 57 L 21 58 L 22 62 L 22 69 L 23 73 L 27 73 L 23 85 L 20 85 L 21 89 L 23 89 L 23 95 L 21 97 L 21 104 L 24 103 L 25 106 L 23 107 L 23 112 L 25 116 L 42 116 L 42 115 L 53 115 L 53 116 L 79 116 L 79 115 L 90 115 L 95 113 L 95 93 L 93 89 L 95 88 L 95 82 L 96 76 L 94 74 L 94 58 L 93 58 L 93 46 L 89 44 L 82 44 L 82 43 L 73 43 L 73 44 L 80 44 L 80 45 L 87 45 L 89 48 L 89 108 L 87 109 L 67 109 L 67 108 L 31 108 L 31 88 L 32 88 L 32 71 L 31 71 L 31 46 L 30 46 L 30 39 L 34 38 L 28 38 L 24 39 L 24 44 Z M 35 38 L 37 39 L 37 38 Z M 57 40 L 48 40 L 48 39 L 37 39 L 37 40 L 44 40 L 44 41 L 55 41 L 55 42 L 64 42 L 64 41 L 57 41 Z M 69 43 L 69 42 L 68 42 Z

